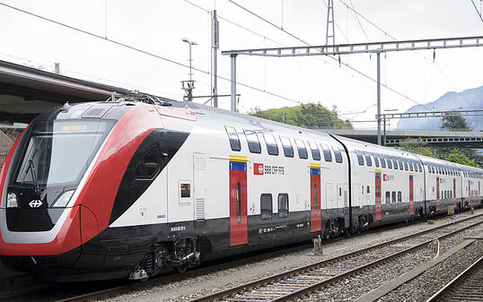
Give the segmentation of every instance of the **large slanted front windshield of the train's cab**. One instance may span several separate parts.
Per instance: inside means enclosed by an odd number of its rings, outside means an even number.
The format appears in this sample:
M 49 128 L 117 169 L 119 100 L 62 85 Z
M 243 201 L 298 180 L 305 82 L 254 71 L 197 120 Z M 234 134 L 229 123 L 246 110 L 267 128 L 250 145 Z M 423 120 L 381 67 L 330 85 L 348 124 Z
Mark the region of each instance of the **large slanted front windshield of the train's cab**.
M 57 120 L 36 123 L 15 183 L 77 185 L 114 125 L 110 120 Z

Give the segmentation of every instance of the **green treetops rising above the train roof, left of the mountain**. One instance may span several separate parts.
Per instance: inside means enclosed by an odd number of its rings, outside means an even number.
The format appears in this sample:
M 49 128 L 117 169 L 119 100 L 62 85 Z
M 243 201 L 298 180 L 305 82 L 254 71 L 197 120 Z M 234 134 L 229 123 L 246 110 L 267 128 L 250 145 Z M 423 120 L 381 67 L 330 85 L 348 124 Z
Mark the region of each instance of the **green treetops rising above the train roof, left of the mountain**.
M 337 112 L 337 111 L 336 111 Z M 258 116 L 272 121 L 302 127 L 322 128 L 333 127 L 340 129 L 352 129 L 352 124 L 346 120 L 338 118 L 338 115 L 321 104 L 303 104 L 295 107 L 284 107 L 261 110 L 259 107 L 253 108 L 249 113 L 251 116 Z

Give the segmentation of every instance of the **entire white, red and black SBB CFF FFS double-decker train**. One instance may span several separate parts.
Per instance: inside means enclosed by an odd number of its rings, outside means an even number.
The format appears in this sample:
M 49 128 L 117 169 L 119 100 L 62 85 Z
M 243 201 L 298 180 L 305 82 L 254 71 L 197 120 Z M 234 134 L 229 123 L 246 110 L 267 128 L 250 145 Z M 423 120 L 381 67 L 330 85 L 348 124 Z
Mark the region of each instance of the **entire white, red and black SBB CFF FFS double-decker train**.
M 4 161 L 0 255 L 49 280 L 139 280 L 477 206 L 482 177 L 192 102 L 66 104 Z

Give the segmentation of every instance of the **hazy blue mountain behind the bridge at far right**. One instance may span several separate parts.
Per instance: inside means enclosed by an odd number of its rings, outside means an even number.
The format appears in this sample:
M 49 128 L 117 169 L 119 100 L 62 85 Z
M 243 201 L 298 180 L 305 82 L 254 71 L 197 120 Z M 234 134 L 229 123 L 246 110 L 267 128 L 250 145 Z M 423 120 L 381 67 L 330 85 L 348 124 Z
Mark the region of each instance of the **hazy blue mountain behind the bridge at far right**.
M 416 105 L 409 108 L 406 113 L 422 111 L 443 111 L 443 110 L 474 110 L 483 109 L 483 86 L 466 91 L 445 93 L 441 98 L 426 104 Z M 465 116 L 468 126 L 479 131 L 483 129 L 483 116 Z M 431 118 L 401 118 L 396 130 L 439 130 L 441 117 Z

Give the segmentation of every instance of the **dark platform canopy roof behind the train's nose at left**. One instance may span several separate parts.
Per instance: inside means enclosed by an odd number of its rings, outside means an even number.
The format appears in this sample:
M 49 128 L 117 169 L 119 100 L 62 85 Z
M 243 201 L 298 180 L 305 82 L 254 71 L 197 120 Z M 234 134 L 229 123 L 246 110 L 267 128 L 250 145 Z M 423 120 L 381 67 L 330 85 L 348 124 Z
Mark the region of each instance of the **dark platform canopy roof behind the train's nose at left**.
M 29 123 L 50 108 L 106 100 L 123 88 L 83 81 L 0 60 L 0 122 Z

